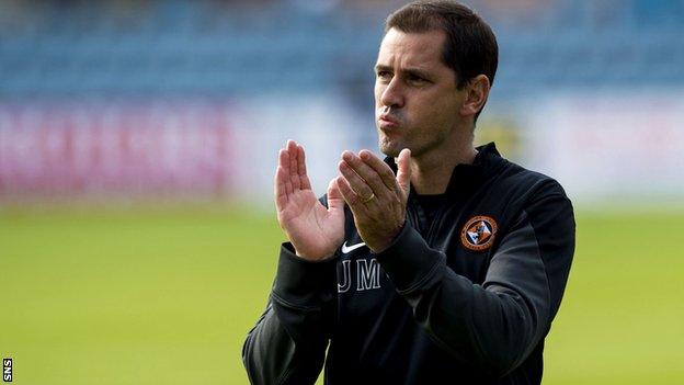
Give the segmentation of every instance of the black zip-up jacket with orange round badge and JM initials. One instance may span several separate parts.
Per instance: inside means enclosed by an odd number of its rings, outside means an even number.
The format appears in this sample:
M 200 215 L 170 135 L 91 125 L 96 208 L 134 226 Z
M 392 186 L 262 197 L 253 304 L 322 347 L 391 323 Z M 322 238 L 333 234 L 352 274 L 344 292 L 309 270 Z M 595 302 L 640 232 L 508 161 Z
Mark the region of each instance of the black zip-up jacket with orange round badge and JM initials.
M 572 205 L 493 144 L 478 150 L 454 168 L 432 220 L 409 195 L 406 225 L 380 253 L 358 245 L 349 208 L 333 259 L 282 246 L 242 351 L 253 384 L 314 384 L 323 362 L 329 385 L 540 383 L 574 251 Z

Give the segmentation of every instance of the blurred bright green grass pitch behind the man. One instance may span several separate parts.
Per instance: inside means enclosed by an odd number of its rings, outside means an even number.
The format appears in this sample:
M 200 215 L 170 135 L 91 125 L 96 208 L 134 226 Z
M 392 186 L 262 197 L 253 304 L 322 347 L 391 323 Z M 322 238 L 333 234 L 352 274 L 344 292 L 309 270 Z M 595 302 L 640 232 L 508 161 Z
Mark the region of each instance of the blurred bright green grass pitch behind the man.
M 545 384 L 684 383 L 684 215 L 578 214 Z M 0 211 L 15 384 L 247 384 L 283 235 L 242 210 Z

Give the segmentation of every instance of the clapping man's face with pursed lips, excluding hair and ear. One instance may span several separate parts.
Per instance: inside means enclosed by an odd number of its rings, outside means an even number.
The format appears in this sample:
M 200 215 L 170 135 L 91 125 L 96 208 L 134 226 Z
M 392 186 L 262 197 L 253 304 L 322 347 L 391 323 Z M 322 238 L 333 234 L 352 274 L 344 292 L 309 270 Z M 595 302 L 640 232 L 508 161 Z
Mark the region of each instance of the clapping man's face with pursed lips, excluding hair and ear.
M 465 91 L 442 63 L 445 39 L 443 31 L 390 29 L 385 35 L 375 67 L 375 118 L 385 155 L 397 157 L 409 148 L 420 157 L 440 148 L 464 118 Z

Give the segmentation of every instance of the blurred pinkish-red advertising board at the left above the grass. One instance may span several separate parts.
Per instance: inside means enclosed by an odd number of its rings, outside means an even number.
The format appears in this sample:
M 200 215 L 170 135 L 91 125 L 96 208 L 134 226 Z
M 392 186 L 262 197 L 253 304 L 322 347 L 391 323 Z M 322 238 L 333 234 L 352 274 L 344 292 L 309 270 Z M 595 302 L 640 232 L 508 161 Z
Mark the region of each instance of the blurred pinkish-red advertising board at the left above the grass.
M 218 102 L 0 105 L 0 196 L 223 195 L 229 116 Z

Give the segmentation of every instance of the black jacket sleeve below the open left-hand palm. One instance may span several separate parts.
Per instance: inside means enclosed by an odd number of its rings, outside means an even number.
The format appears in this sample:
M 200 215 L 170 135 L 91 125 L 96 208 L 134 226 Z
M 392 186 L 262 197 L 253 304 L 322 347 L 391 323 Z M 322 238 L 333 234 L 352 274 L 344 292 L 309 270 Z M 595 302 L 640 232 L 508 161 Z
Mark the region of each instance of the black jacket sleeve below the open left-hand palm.
M 306 261 L 283 244 L 266 309 L 242 347 L 252 384 L 316 382 L 330 339 L 334 269 L 334 259 Z

